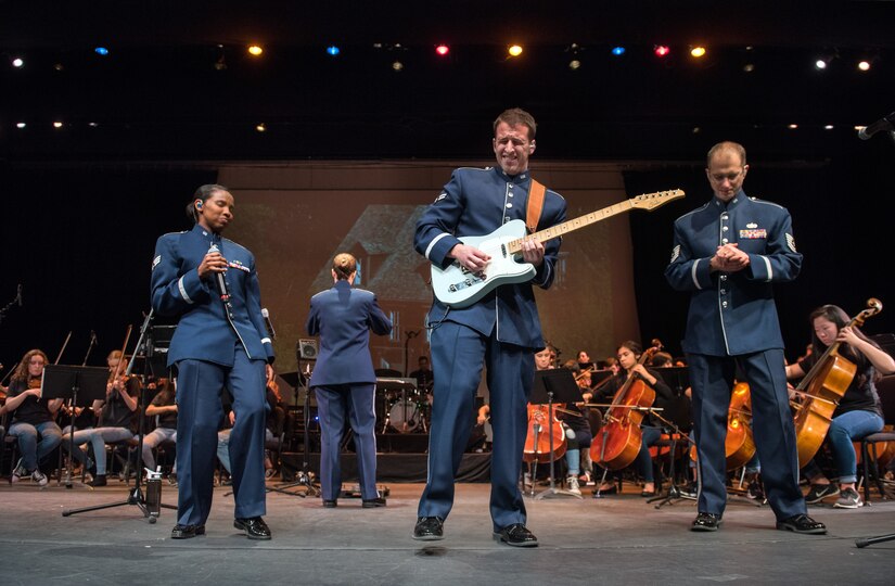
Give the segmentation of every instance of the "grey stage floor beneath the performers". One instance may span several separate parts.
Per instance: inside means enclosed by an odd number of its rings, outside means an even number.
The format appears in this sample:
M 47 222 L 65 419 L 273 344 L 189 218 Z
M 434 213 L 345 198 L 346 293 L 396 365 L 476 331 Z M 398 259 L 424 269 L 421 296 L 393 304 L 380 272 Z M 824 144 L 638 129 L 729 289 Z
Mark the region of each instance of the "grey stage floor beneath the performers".
M 68 518 L 63 509 L 124 501 L 117 481 L 90 491 L 0 484 L 2 584 L 892 584 L 895 542 L 855 547 L 856 537 L 895 532 L 895 502 L 858 510 L 810 507 L 826 536 L 776 531 L 768 507 L 728 506 L 717 533 L 692 533 L 693 501 L 656 510 L 630 494 L 603 499 L 526 498 L 536 549 L 491 538 L 486 484 L 461 484 L 442 542 L 410 538 L 421 484 L 391 484 L 387 508 L 271 493 L 270 542 L 232 527 L 228 487 L 215 489 L 204 537 L 169 538 L 174 511 L 156 524 L 135 506 Z M 163 501 L 176 501 L 176 488 Z

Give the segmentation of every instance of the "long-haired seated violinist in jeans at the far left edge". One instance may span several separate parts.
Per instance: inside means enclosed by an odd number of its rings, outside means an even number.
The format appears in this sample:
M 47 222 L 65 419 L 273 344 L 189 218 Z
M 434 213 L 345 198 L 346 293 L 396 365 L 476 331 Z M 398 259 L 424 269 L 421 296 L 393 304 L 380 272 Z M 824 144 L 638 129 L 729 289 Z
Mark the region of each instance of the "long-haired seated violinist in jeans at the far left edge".
M 3 410 L 12 413 L 9 434 L 18 438 L 22 454 L 12 473 L 13 482 L 30 476 L 36 484 L 46 486 L 47 475 L 40 471 L 40 460 L 62 442 L 62 430 L 53 419 L 63 399 L 41 398 L 41 377 L 48 362 L 41 351 L 28 351 L 10 380 Z

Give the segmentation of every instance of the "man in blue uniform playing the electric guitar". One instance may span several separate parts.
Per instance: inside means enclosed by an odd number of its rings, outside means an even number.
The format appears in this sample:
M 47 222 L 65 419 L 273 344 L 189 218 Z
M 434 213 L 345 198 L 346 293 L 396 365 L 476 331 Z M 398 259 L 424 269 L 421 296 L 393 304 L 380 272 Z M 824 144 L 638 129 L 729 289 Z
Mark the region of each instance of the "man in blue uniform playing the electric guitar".
M 473 272 L 488 265 L 487 253 L 460 237 L 485 235 L 503 224 L 526 218 L 528 157 L 535 152 L 535 119 L 513 109 L 494 123 L 498 166 L 456 169 L 442 193 L 417 224 L 414 247 L 434 265 L 457 263 Z M 537 221 L 542 230 L 565 220 L 565 201 L 547 190 Z M 427 316 L 435 377 L 430 428 L 429 476 L 418 509 L 415 539 L 444 537 L 444 521 L 453 505 L 453 484 L 474 420 L 473 403 L 483 366 L 487 366 L 494 451 L 490 513 L 494 536 L 511 546 L 538 544 L 525 526 L 519 489 L 527 431 L 526 405 L 534 382 L 534 353 L 544 348 L 533 285 L 547 289 L 555 276 L 559 239 L 541 244 L 525 239 L 523 258 L 536 267 L 524 283 L 503 284 L 462 309 L 437 298 Z

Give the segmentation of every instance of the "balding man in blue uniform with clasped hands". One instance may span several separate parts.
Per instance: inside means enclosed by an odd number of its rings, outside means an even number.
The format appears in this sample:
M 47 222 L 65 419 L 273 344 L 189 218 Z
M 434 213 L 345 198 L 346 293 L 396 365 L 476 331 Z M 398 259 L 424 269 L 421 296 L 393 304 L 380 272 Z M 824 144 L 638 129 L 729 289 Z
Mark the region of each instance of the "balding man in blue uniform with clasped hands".
M 725 437 L 736 369 L 752 393 L 753 431 L 762 480 L 777 528 L 826 533 L 806 514 L 798 488 L 795 430 L 787 393 L 783 337 L 773 284 L 792 281 L 802 267 L 789 212 L 747 198 L 745 149 L 720 142 L 705 170 L 715 196 L 675 221 L 665 277 L 688 291 L 683 351 L 693 390 L 699 453 L 699 514 L 693 531 L 717 531 L 726 489 Z

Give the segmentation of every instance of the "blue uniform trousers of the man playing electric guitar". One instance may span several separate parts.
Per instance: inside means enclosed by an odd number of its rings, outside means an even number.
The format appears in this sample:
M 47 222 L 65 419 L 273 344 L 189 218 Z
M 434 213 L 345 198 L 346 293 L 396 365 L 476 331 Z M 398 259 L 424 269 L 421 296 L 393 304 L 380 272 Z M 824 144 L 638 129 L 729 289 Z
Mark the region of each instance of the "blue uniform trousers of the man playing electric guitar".
M 490 513 L 496 531 L 525 523 L 519 489 L 522 449 L 527 433 L 528 397 L 535 378 L 530 348 L 501 343 L 493 332 L 444 321 L 432 332 L 435 386 L 429 441 L 429 475 L 419 517 L 446 519 L 453 506 L 453 482 L 475 420 L 474 402 L 487 365 L 491 451 Z

